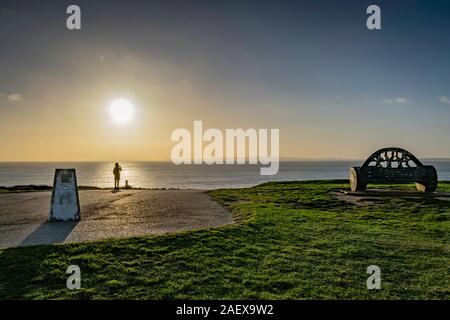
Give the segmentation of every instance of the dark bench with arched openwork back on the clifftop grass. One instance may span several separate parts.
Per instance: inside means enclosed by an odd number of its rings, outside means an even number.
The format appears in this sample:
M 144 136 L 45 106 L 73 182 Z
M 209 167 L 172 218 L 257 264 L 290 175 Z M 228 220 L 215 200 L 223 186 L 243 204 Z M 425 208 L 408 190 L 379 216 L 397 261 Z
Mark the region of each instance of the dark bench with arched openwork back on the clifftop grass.
M 401 148 L 384 148 L 373 153 L 361 167 L 350 168 L 352 191 L 365 190 L 368 183 L 416 183 L 421 192 L 434 192 L 438 175 L 434 166 L 425 166 Z

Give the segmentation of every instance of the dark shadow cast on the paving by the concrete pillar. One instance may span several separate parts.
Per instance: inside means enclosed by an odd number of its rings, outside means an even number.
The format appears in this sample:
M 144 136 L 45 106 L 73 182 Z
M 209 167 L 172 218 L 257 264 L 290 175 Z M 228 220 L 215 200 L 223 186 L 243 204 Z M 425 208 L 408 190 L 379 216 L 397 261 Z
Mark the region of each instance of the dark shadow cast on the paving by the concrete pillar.
M 33 230 L 22 242 L 19 247 L 32 246 L 39 244 L 53 244 L 62 243 L 75 226 L 78 221 L 65 222 L 44 222 L 39 227 Z

